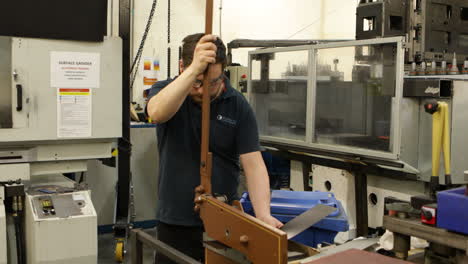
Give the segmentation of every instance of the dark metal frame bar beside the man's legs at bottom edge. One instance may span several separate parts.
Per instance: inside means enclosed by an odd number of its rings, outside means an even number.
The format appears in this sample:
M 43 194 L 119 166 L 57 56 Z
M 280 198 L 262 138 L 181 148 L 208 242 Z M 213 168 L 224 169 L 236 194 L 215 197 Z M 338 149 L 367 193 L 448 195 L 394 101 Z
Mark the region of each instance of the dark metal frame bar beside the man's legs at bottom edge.
M 143 263 L 143 246 L 148 246 L 158 253 L 168 257 L 177 264 L 201 264 L 193 258 L 185 255 L 184 253 L 174 249 L 173 247 L 165 244 L 164 242 L 154 238 L 146 232 L 133 229 L 130 233 L 131 243 L 131 263 L 142 264 Z

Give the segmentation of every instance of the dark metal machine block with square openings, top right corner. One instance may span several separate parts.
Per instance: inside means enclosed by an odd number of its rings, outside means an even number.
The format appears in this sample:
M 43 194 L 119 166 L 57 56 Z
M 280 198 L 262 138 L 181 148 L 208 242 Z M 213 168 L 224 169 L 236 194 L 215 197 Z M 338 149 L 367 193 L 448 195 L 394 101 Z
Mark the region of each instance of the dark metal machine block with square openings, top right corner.
M 406 61 L 441 63 L 468 57 L 468 3 L 460 0 L 361 0 L 356 39 L 406 36 Z M 440 64 L 439 64 L 440 65 Z

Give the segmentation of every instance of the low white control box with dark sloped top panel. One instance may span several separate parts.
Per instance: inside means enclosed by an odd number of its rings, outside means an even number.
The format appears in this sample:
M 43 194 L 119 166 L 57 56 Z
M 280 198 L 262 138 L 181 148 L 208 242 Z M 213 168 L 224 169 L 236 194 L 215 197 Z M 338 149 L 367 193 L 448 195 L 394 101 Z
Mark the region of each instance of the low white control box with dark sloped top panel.
M 56 216 L 44 215 L 40 199 L 54 203 Z M 28 263 L 97 263 L 97 216 L 89 191 L 27 194 L 25 214 Z

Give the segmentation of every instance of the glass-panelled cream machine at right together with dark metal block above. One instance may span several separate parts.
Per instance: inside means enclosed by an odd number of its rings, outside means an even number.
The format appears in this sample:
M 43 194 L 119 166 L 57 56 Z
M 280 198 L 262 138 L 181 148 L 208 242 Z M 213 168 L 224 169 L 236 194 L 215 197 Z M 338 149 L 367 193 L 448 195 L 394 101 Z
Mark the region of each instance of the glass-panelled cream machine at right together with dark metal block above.
M 429 182 L 424 105 L 435 98 L 448 103 L 452 183 L 466 183 L 467 6 L 361 0 L 357 41 L 250 52 L 248 97 L 262 144 Z

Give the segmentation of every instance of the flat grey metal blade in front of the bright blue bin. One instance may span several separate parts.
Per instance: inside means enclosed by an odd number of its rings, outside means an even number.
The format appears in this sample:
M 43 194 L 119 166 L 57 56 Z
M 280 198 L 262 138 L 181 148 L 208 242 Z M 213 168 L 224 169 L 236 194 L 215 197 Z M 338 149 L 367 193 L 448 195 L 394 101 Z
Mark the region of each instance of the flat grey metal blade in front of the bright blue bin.
M 319 204 L 304 213 L 300 214 L 293 220 L 287 222 L 281 230 L 286 232 L 288 239 L 295 237 L 297 234 L 315 225 L 318 221 L 327 217 L 336 210 L 335 207 Z

